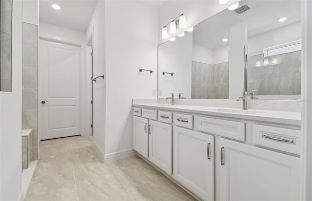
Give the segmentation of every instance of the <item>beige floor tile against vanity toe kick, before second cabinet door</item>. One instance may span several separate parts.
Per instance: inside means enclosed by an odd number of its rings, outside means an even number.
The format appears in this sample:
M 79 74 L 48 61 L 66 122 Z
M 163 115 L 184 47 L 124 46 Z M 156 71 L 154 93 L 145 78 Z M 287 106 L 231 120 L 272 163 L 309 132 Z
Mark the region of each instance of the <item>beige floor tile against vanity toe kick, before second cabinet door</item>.
M 152 183 L 159 177 L 153 170 L 144 164 L 137 164 L 115 172 L 119 181 L 126 189 L 134 188 L 144 183 Z

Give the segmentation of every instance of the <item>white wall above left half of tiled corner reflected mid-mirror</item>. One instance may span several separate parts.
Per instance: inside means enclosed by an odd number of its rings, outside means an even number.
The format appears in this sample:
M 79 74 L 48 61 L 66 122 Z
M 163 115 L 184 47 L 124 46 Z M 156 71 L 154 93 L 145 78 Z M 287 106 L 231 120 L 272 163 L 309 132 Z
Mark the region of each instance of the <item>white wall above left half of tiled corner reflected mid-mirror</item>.
M 192 60 L 200 63 L 214 64 L 214 53 L 211 49 L 193 44 Z

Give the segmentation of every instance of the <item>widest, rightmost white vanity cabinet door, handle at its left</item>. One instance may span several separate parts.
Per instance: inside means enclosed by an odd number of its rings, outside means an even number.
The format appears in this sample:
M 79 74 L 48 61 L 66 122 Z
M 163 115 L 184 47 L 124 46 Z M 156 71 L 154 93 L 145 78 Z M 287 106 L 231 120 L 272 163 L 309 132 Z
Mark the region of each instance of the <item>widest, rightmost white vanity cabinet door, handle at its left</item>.
M 300 200 L 299 158 L 226 139 L 216 144 L 216 200 Z

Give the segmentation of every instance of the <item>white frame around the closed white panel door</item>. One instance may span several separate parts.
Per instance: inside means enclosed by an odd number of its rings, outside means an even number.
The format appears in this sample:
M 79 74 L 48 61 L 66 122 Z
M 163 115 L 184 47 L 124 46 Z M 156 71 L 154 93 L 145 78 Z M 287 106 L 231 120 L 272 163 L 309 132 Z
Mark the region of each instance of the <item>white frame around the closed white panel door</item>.
M 81 44 L 81 42 L 79 41 L 75 41 L 75 40 L 70 40 L 70 39 L 67 39 L 67 38 L 63 38 L 63 37 L 58 37 L 58 36 L 53 36 L 53 35 L 46 35 L 46 34 L 39 34 L 39 43 L 38 43 L 38 58 L 40 58 L 41 56 L 41 50 L 40 50 L 40 41 L 42 40 L 46 40 L 46 41 L 50 41 L 50 42 L 58 42 L 58 43 L 61 43 L 61 44 L 65 44 L 65 45 L 72 45 L 72 46 L 76 46 L 76 47 L 79 47 L 80 48 L 80 54 L 79 54 L 79 62 L 80 62 L 80 65 L 78 67 L 78 73 L 79 73 L 79 80 L 82 79 L 82 73 L 83 73 L 83 67 L 85 66 L 84 63 L 85 63 L 85 56 L 84 56 L 84 52 L 85 52 L 85 46 Z M 39 94 L 39 88 L 40 88 L 40 76 L 39 76 L 39 71 L 40 71 L 40 66 L 41 66 L 41 63 L 40 63 L 40 59 L 38 59 L 38 105 L 41 104 L 41 100 L 39 99 L 40 97 L 40 94 Z M 83 108 L 83 100 L 81 97 L 83 97 L 84 95 L 84 91 L 83 91 L 83 85 L 81 83 L 79 83 L 79 95 L 78 95 L 78 99 L 79 99 L 79 104 L 80 104 L 80 112 L 79 112 L 79 115 L 80 115 L 80 122 L 78 126 L 80 126 L 80 133 L 81 135 L 83 135 L 83 122 L 84 122 L 84 108 Z M 40 120 L 40 108 L 38 108 L 38 142 L 40 142 L 41 140 L 41 127 L 39 126 L 40 123 L 41 123 L 41 120 Z

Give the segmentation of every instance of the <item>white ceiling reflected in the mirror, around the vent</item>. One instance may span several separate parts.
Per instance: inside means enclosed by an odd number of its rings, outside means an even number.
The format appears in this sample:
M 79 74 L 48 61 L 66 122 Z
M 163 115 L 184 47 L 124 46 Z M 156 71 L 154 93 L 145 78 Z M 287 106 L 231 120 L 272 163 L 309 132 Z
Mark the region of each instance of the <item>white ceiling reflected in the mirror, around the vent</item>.
M 300 0 L 242 0 L 239 3 L 240 6 L 246 3 L 251 9 L 241 14 L 226 9 L 206 19 L 194 27 L 193 42 L 209 49 L 227 45 L 229 41 L 222 39 L 229 37 L 230 26 L 242 21 L 247 22 L 248 37 L 300 21 Z M 277 21 L 285 16 L 286 21 Z

